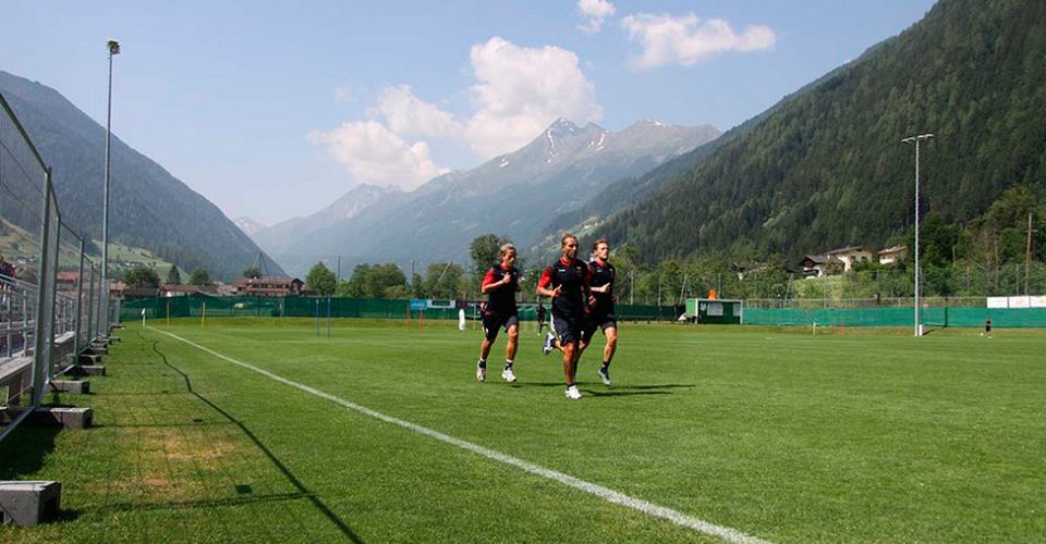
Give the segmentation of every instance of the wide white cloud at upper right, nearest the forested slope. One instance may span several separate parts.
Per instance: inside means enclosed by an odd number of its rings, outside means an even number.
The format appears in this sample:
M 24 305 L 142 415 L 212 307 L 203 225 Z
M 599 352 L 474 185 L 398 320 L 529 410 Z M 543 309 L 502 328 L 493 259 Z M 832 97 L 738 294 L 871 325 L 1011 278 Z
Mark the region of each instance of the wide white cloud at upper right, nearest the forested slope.
M 629 33 L 629 40 L 638 41 L 643 53 L 630 62 L 640 69 L 665 64 L 689 66 L 714 54 L 728 51 L 757 51 L 774 46 L 774 30 L 764 25 L 753 25 L 738 34 L 730 24 L 720 18 L 700 18 L 693 13 L 682 16 L 637 13 L 621 20 Z

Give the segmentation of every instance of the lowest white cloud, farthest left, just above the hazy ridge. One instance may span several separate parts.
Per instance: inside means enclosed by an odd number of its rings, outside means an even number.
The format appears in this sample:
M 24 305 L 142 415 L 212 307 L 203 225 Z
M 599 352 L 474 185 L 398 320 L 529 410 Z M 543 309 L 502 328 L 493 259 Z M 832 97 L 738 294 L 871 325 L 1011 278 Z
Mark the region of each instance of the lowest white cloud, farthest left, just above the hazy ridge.
M 428 144 L 408 144 L 377 121 L 344 123 L 330 132 L 313 132 L 308 141 L 330 154 L 361 183 L 396 185 L 410 190 L 448 169 L 429 157 Z

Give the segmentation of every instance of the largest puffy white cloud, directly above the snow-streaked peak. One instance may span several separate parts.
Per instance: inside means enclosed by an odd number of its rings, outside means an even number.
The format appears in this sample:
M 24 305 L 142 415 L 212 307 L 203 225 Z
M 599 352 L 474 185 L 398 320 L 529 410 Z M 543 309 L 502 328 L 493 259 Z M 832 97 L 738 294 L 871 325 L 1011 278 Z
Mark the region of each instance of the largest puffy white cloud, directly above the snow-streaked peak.
M 523 48 L 502 38 L 472 47 L 477 110 L 465 137 L 484 159 L 513 151 L 558 118 L 597 122 L 603 108 L 577 66 L 577 55 L 545 46 Z

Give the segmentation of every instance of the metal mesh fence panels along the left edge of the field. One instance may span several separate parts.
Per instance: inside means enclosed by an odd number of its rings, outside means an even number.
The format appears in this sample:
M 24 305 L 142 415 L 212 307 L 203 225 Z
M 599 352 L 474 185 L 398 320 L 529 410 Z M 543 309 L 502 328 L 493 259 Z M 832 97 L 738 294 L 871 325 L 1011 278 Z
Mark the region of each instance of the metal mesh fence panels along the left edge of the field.
M 62 222 L 51 171 L 0 95 L 0 440 L 40 406 L 52 378 L 108 334 L 108 289 L 85 247 Z

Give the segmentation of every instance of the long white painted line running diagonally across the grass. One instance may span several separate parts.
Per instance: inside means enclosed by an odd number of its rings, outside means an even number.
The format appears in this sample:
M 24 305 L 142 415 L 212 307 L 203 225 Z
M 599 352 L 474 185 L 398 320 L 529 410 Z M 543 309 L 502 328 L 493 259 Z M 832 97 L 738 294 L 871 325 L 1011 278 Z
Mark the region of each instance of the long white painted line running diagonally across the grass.
M 345 399 L 336 397 L 336 396 L 333 396 L 333 395 L 331 395 L 331 394 L 329 394 L 329 393 L 324 393 L 323 391 L 319 391 L 319 390 L 317 390 L 317 388 L 315 388 L 315 387 L 311 387 L 311 386 L 305 385 L 305 384 L 301 384 L 301 383 L 297 383 L 297 382 L 293 382 L 293 381 L 288 380 L 288 379 L 285 379 L 285 378 L 283 378 L 283 376 L 273 374 L 272 372 L 269 372 L 269 371 L 267 371 L 267 370 L 263 370 L 263 369 L 259 369 L 259 368 L 254 367 L 254 366 L 252 366 L 252 364 L 247 364 L 246 362 L 243 362 L 243 361 L 238 361 L 236 359 L 233 359 L 233 358 L 231 358 L 231 357 L 227 357 L 227 356 L 224 356 L 224 355 L 221 355 L 221 354 L 219 354 L 219 353 L 217 353 L 217 351 L 215 351 L 215 350 L 212 350 L 212 349 L 209 349 L 209 348 L 206 348 L 206 347 L 204 347 L 204 346 L 200 346 L 199 344 L 196 344 L 196 343 L 194 343 L 194 342 L 192 342 L 192 341 L 187 341 L 187 339 L 185 339 L 185 338 L 182 338 L 181 336 L 178 336 L 177 334 L 169 333 L 169 332 L 167 332 L 167 331 L 161 331 L 161 330 L 159 330 L 159 329 L 154 329 L 154 327 L 151 327 L 151 326 L 149 326 L 148 329 L 151 329 L 151 330 L 154 330 L 154 331 L 163 333 L 163 334 L 166 334 L 166 335 L 168 335 L 168 336 L 170 336 L 170 337 L 172 337 L 172 338 L 174 338 L 174 339 L 184 342 L 185 344 L 188 344 L 190 346 L 193 346 L 193 347 L 195 347 L 195 348 L 197 348 L 197 349 L 200 349 L 200 350 L 203 350 L 203 351 L 206 351 L 206 353 L 208 353 L 208 354 L 210 354 L 210 355 L 212 355 L 212 356 L 215 356 L 215 357 L 217 357 L 217 358 L 219 358 L 219 359 L 229 361 L 229 362 L 231 362 L 231 363 L 233 363 L 233 364 L 239 364 L 239 366 L 241 366 L 241 367 L 243 367 L 243 368 L 245 368 L 245 369 L 248 369 L 248 370 L 253 370 L 253 371 L 255 371 L 255 372 L 257 372 L 257 373 L 259 373 L 259 374 L 262 374 L 262 375 L 264 375 L 264 376 L 266 376 L 266 378 L 268 378 L 268 379 L 270 379 L 270 380 L 275 380 L 275 381 L 280 382 L 280 383 L 282 383 L 282 384 L 284 384 L 284 385 L 290 385 L 291 387 L 294 387 L 294 388 L 296 388 L 296 390 L 301 390 L 301 391 L 304 391 L 305 393 L 308 393 L 308 394 L 315 395 L 315 396 L 317 396 L 317 397 L 320 397 L 320 398 L 330 400 L 331 403 L 335 403 L 335 404 L 337 404 L 337 405 L 340 405 L 340 406 L 343 406 L 343 407 L 345 407 L 345 408 L 349 408 L 350 410 L 354 410 L 354 411 L 357 411 L 357 412 L 360 412 L 360 413 L 363 413 L 363 415 L 366 415 L 366 416 L 370 416 L 372 418 L 379 419 L 379 420 L 385 421 L 385 422 L 387 422 L 387 423 L 392 423 L 393 425 L 399 425 L 399 426 L 402 426 L 402 428 L 404 428 L 404 429 L 410 429 L 411 431 L 414 431 L 414 432 L 416 432 L 416 433 L 421 433 L 421 434 L 424 434 L 424 435 L 426 435 L 426 436 L 430 436 L 430 437 L 433 437 L 433 438 L 436 438 L 436 440 L 438 440 L 438 441 L 440 441 L 440 442 L 445 442 L 445 443 L 447 443 L 447 444 L 451 444 L 451 445 L 453 445 L 453 446 L 458 446 L 458 447 L 460 447 L 460 448 L 462 448 L 462 449 L 466 449 L 466 450 L 472 452 L 472 453 L 474 453 L 474 454 L 482 455 L 482 456 L 484 456 L 484 457 L 486 457 L 486 458 L 488 458 L 488 459 L 492 459 L 492 460 L 496 460 L 496 461 L 500 461 L 500 462 L 503 462 L 503 463 L 506 463 L 506 465 L 511 465 L 511 466 L 513 466 L 513 467 L 515 467 L 515 468 L 522 469 L 522 470 L 524 470 L 524 471 L 526 471 L 526 472 L 530 472 L 530 473 L 532 473 L 532 474 L 537 474 L 537 475 L 539 475 L 539 477 L 544 477 L 544 478 L 547 478 L 547 479 L 549 479 L 549 480 L 557 481 L 557 482 L 559 482 L 559 483 L 561 483 L 561 484 L 569 485 L 570 487 L 573 487 L 573 489 L 575 489 L 575 490 L 581 490 L 581 491 L 583 491 L 583 492 L 585 492 L 585 493 L 589 493 L 589 494 L 595 495 L 595 496 L 597 496 L 597 497 L 599 497 L 599 498 L 601 498 L 601 499 L 604 499 L 604 500 L 607 500 L 607 502 L 609 502 L 609 503 L 613 503 L 613 504 L 621 505 L 621 506 L 624 506 L 624 507 L 628 507 L 628 508 L 632 508 L 633 510 L 638 510 L 638 511 L 641 511 L 641 512 L 643 512 L 643 514 L 647 514 L 647 515 L 649 515 L 649 516 L 655 516 L 655 517 L 658 517 L 658 518 L 667 519 L 667 520 L 669 520 L 669 521 L 671 521 L 672 523 L 676 523 L 676 524 L 678 524 L 678 526 L 682 526 L 682 527 L 685 527 L 685 528 L 689 528 L 689 529 L 693 529 L 694 531 L 698 531 L 698 532 L 702 532 L 702 533 L 705 533 L 705 534 L 710 534 L 710 535 L 714 535 L 714 536 L 719 536 L 720 539 L 722 539 L 722 540 L 725 540 L 725 541 L 728 541 L 728 542 L 739 542 L 739 543 L 750 543 L 750 544 L 756 544 L 756 543 L 759 543 L 759 544 L 768 544 L 768 541 L 764 541 L 764 540 L 762 540 L 762 539 L 757 539 L 757 537 L 755 537 L 755 536 L 751 536 L 751 535 L 745 534 L 745 533 L 743 533 L 743 532 L 741 532 L 741 531 L 738 531 L 738 530 L 735 530 L 735 529 L 731 529 L 731 528 L 729 528 L 729 527 L 717 526 L 717 524 L 715 524 L 715 523 L 709 523 L 709 522 L 707 522 L 707 521 L 704 521 L 704 520 L 694 518 L 694 517 L 692 517 L 692 516 L 686 516 L 685 514 L 682 514 L 682 512 L 680 512 L 680 511 L 673 510 L 673 509 L 671 509 L 671 508 L 667 508 L 667 507 L 664 507 L 664 506 L 659 506 L 659 505 L 656 505 L 656 504 L 654 504 L 654 503 L 649 503 L 649 502 L 646 502 L 646 500 L 643 500 L 643 499 L 640 499 L 640 498 L 631 497 L 631 496 L 625 495 L 625 494 L 623 494 L 623 493 L 613 491 L 613 490 L 611 490 L 611 489 L 609 489 L 609 487 L 604 487 L 604 486 L 601 486 L 601 485 L 594 484 L 594 483 L 592 483 L 592 482 L 586 482 L 585 480 L 581 480 L 580 478 L 574 478 L 574 477 L 572 477 L 572 475 L 570 475 L 570 474 L 564 474 L 564 473 L 562 473 L 562 472 L 558 472 L 558 471 L 555 471 L 555 470 L 551 470 L 551 469 L 547 469 L 547 468 L 545 468 L 545 467 L 542 467 L 542 466 L 539 466 L 539 465 L 535 465 L 535 463 L 530 462 L 530 461 L 525 461 L 525 460 L 520 459 L 520 458 L 518 458 L 518 457 L 512 457 L 512 456 L 510 456 L 510 455 L 506 455 L 506 454 L 502 454 L 502 453 L 500 453 L 500 452 L 495 452 L 495 450 L 492 450 L 492 449 L 485 448 L 485 447 L 479 446 L 479 445 L 477 445 L 477 444 L 473 444 L 473 443 L 471 443 L 471 442 L 466 442 L 466 441 L 463 441 L 463 440 L 461 440 L 461 438 L 455 438 L 455 437 L 453 437 L 453 436 L 450 436 L 449 434 L 443 434 L 443 433 L 441 433 L 441 432 L 439 432 L 439 431 L 434 431 L 434 430 L 428 429 L 428 428 L 426 428 L 426 426 L 422 426 L 422 425 L 418 425 L 418 424 L 416 424 L 416 423 L 411 423 L 410 421 L 405 421 L 405 420 L 402 420 L 402 419 L 399 419 L 399 418 L 393 418 L 393 417 L 391 417 L 391 416 L 386 416 L 385 413 L 381 413 L 381 412 L 379 412 L 379 411 L 372 410 L 370 408 L 367 408 L 367 407 L 365 407 L 365 406 L 361 406 L 361 405 L 357 405 L 357 404 L 355 404 L 355 403 L 350 403 L 349 400 L 345 400 Z

